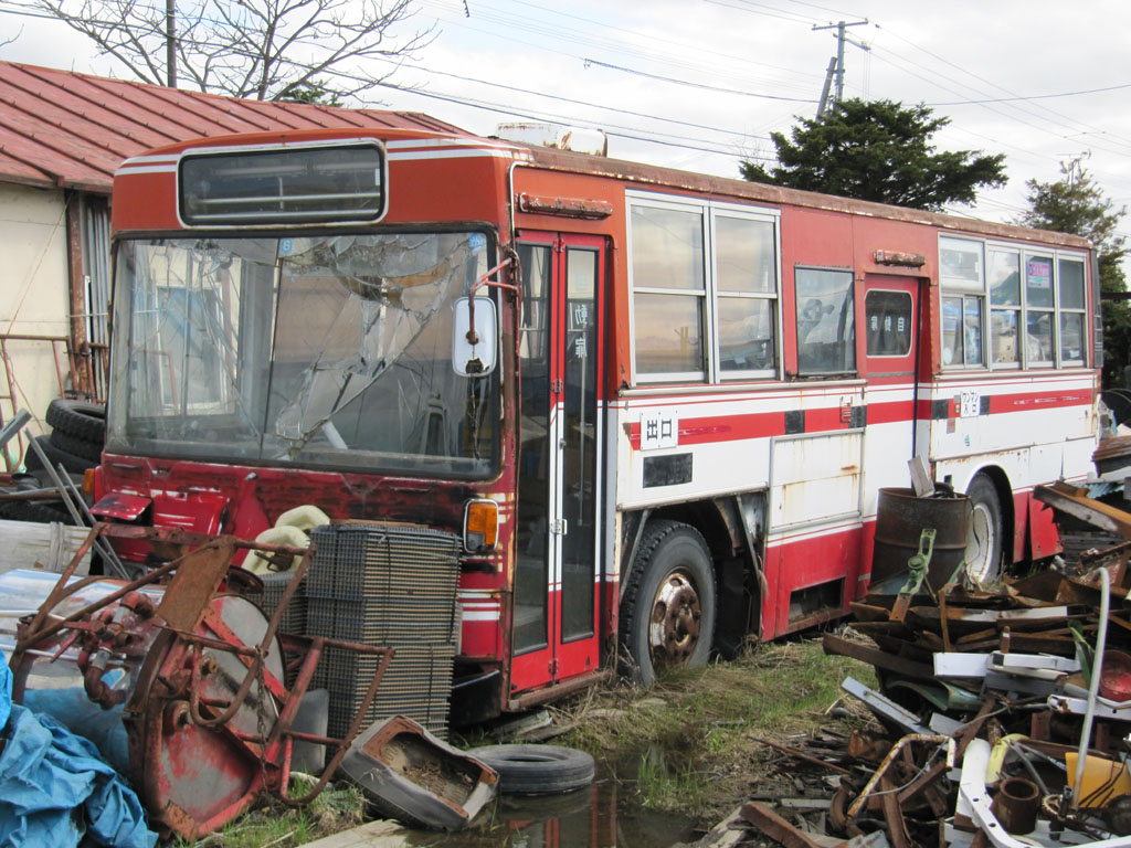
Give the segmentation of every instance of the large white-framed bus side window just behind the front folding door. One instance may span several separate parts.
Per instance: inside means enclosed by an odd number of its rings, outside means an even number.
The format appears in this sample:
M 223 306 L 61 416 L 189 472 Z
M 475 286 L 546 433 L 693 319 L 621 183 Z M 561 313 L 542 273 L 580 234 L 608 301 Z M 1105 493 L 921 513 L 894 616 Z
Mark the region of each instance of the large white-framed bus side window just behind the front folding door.
M 638 378 L 774 377 L 777 215 L 642 192 L 627 197 Z

